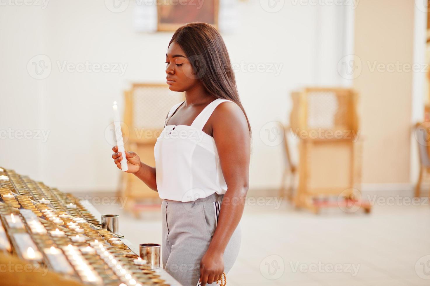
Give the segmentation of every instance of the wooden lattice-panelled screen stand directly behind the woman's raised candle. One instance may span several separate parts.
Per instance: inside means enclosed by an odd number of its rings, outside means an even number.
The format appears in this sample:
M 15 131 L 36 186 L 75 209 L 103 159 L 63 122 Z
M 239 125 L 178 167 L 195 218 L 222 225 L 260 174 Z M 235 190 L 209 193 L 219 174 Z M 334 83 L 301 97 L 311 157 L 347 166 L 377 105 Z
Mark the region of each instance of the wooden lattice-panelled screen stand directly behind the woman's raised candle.
M 173 105 L 183 101 L 183 92 L 172 92 L 166 84 L 135 83 L 124 92 L 123 133 L 126 151 L 139 154 L 141 161 L 155 166 L 154 145 L 164 128 L 164 120 Z M 158 193 L 135 175 L 123 172 L 120 194 L 127 198 L 124 209 L 138 215 L 142 207 L 159 206 Z M 155 204 L 141 205 L 138 202 Z

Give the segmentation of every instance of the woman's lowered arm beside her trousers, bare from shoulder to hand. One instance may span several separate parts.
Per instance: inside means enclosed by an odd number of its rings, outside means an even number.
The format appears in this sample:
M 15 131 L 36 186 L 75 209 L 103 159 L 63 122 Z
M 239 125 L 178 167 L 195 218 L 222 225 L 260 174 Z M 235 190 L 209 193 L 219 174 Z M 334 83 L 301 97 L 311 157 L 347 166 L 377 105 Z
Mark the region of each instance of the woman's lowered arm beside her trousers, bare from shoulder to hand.
M 202 285 L 216 281 L 224 271 L 224 251 L 242 217 L 248 191 L 251 144 L 246 117 L 235 103 L 218 105 L 210 120 L 227 191 L 212 241 L 200 262 Z

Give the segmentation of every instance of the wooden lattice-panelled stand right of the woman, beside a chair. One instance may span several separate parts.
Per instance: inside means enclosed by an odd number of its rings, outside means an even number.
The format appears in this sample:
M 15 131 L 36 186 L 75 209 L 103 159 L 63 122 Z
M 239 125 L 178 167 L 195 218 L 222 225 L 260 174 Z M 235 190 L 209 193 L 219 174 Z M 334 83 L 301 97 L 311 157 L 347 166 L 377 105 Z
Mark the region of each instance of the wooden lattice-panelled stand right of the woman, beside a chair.
M 318 212 L 331 197 L 360 193 L 361 144 L 357 95 L 352 89 L 305 88 L 292 92 L 292 132 L 299 138 L 295 205 Z M 361 195 L 361 193 L 360 193 Z M 362 206 L 370 211 L 369 204 Z

